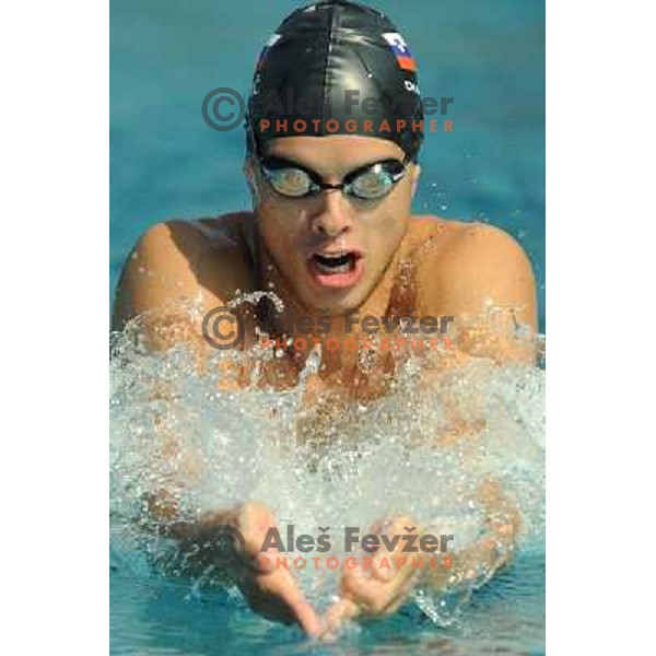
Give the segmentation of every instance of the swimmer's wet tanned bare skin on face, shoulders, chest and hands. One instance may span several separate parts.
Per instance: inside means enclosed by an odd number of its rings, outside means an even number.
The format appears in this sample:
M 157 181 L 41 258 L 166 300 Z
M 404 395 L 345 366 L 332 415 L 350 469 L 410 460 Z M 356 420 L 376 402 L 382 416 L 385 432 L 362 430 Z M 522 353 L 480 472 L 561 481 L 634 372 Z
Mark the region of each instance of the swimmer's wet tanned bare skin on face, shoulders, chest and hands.
M 353 169 L 386 159 L 403 159 L 393 142 L 355 136 L 293 137 L 269 144 L 267 154 L 290 160 L 338 184 Z M 263 179 L 259 167 L 247 160 L 244 174 L 254 196 L 254 212 L 238 212 L 192 222 L 168 221 L 151 227 L 137 244 L 122 272 L 115 300 L 113 327 L 121 329 L 131 318 L 150 313 L 144 325 L 155 349 L 169 347 L 186 336 L 202 344 L 199 323 L 187 330 L 157 330 L 171 320 L 171 302 L 194 300 L 202 316 L 226 305 L 237 291 L 272 290 L 294 316 L 332 317 L 328 333 L 314 333 L 320 341 L 343 340 L 343 316 L 412 314 L 413 316 L 483 316 L 489 307 L 512 311 L 513 323 L 536 329 L 536 289 L 530 262 L 522 247 L 503 231 L 490 225 L 446 221 L 436 216 L 412 216 L 411 201 L 420 167 L 410 164 L 393 191 L 377 201 L 351 199 L 339 190 L 327 190 L 302 199 L 283 198 Z M 351 284 L 329 284 L 316 268 L 316 256 L 356 254 L 359 270 Z M 314 258 L 314 259 L 313 259 Z M 328 282 L 328 284 L 327 284 Z M 347 280 L 347 282 L 349 282 Z M 189 323 L 188 316 L 176 316 Z M 262 321 L 267 331 L 289 325 L 284 317 L 251 316 L 244 345 L 253 343 L 253 329 Z M 301 333 L 298 333 L 301 335 Z M 296 337 L 292 335 L 291 337 Z M 303 332 L 302 337 L 307 338 Z M 268 383 L 293 384 L 305 352 L 293 351 L 278 364 Z M 491 335 L 484 324 L 460 335 L 456 361 L 488 356 L 496 362 L 529 362 L 534 353 L 512 335 Z M 380 356 L 380 372 L 394 363 Z M 378 376 L 379 377 L 379 376 Z M 384 394 L 375 375 L 364 375 L 356 353 L 323 350 L 318 373 L 321 389 L 371 398 Z M 502 496 L 494 497 L 503 503 Z M 248 506 L 273 522 L 262 504 Z M 255 509 L 254 509 L 255 508 Z M 512 515 L 512 513 L 511 513 Z M 234 511 L 233 515 L 234 516 Z M 266 523 L 266 522 L 265 522 Z M 511 529 L 508 529 L 511 526 Z M 514 528 L 513 528 L 514 527 Z M 515 522 L 491 528 L 505 536 Z M 481 552 L 481 558 L 485 554 Z M 342 600 L 320 621 L 298 591 L 291 575 L 263 573 L 250 583 L 265 596 L 267 614 L 294 618 L 309 634 L 331 634 L 339 623 L 356 614 L 383 614 L 396 609 L 411 588 L 411 577 L 397 572 L 389 581 L 356 578 L 344 573 Z M 254 601 L 257 609 L 257 602 Z

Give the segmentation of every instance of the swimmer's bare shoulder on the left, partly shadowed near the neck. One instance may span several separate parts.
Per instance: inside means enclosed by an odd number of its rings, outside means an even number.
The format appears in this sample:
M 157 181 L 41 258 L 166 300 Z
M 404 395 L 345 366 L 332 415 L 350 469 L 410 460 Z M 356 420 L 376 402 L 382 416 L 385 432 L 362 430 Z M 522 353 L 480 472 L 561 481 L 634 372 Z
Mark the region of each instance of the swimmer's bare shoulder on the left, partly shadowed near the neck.
M 249 213 L 151 226 L 128 257 L 116 291 L 113 328 L 178 300 L 213 306 L 254 284 Z

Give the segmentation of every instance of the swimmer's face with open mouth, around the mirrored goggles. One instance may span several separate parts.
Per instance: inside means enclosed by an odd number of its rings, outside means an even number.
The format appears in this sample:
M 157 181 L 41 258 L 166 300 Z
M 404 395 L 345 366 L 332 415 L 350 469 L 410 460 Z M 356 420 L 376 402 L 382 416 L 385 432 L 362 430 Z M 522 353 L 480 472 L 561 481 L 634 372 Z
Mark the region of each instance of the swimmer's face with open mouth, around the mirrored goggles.
M 405 153 L 383 139 L 333 134 L 277 139 L 267 145 L 266 155 L 339 184 L 356 168 L 382 160 L 402 161 Z M 255 163 L 254 168 L 260 239 L 297 301 L 331 315 L 362 305 L 406 234 L 419 167 L 409 165 L 403 179 L 377 200 L 360 200 L 341 190 L 285 198 Z

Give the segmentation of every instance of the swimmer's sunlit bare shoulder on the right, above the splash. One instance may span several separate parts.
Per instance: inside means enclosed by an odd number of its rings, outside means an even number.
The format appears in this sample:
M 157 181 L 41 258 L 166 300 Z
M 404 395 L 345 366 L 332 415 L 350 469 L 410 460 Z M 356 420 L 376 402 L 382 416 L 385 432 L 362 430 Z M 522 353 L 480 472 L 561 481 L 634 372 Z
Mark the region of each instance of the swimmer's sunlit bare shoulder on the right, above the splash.
M 441 314 L 477 314 L 513 307 L 535 327 L 535 277 L 524 248 L 489 224 L 417 216 L 411 260 L 421 305 Z

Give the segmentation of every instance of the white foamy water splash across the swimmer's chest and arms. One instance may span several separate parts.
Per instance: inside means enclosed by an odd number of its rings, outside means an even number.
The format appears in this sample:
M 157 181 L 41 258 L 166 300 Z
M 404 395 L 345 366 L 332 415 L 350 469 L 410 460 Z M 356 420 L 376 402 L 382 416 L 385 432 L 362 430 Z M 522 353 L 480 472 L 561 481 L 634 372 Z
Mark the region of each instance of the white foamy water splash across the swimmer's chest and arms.
M 231 375 L 223 365 L 238 363 L 238 352 L 218 352 L 200 372 L 189 347 L 149 353 L 138 330 L 114 335 L 112 352 L 112 549 L 113 559 L 134 572 L 148 574 L 171 547 L 155 537 L 144 501 L 162 490 L 190 519 L 257 499 L 297 535 L 316 536 L 318 526 L 330 526 L 333 536 L 345 526 L 366 532 L 383 517 L 410 515 L 435 527 L 431 532 L 453 534 L 459 549 L 481 534 L 477 490 L 493 476 L 522 514 L 519 549 L 543 541 L 539 367 L 480 358 L 420 383 L 425 362 L 411 356 L 399 364 L 386 397 L 307 403 L 320 351 L 285 390 L 223 385 Z M 250 366 L 254 353 L 248 358 Z M 445 440 L 454 412 L 460 435 Z M 332 544 L 341 555 L 341 541 Z M 298 575 L 311 599 L 326 607 L 337 573 Z M 444 625 L 473 585 L 442 596 L 419 588 L 413 599 Z

